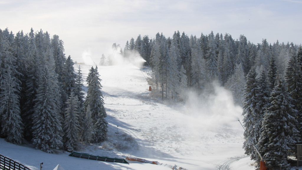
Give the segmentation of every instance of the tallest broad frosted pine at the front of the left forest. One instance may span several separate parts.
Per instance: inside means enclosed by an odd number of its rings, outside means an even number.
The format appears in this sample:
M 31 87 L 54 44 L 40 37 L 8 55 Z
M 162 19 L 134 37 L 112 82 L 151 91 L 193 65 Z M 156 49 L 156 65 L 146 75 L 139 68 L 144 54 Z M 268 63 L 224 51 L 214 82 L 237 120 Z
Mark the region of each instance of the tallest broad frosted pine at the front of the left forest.
M 60 87 L 55 72 L 49 35 L 47 32 L 44 34 L 40 30 L 36 38 L 40 66 L 38 68 L 38 89 L 34 99 L 34 114 L 32 116 L 32 142 L 37 149 L 53 153 L 53 149 L 61 149 L 63 146 Z

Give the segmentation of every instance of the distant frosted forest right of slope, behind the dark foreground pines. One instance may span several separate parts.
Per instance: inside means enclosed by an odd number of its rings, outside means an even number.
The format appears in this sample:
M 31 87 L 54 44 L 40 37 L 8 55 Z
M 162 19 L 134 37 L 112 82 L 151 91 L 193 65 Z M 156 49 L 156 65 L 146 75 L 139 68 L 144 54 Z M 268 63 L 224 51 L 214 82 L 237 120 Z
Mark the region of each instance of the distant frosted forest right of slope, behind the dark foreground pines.
M 172 38 L 157 33 L 155 38 L 139 35 L 126 42 L 124 51 L 120 45 L 112 49 L 125 58 L 133 51 L 139 52 L 154 73 L 157 88 L 162 87 L 162 98 L 181 98 L 181 91 L 194 88 L 202 91 L 209 83 L 217 81 L 233 92 L 236 104 L 243 105 L 242 95 L 245 76 L 252 67 L 259 73 L 268 71 L 271 61 L 275 61 L 277 73 L 284 76 L 289 58 L 297 53 L 298 46 L 293 43 L 253 44 L 244 35 L 233 39 L 230 34 L 200 37 L 187 36 L 175 31 Z M 100 65 L 104 64 L 104 55 Z M 165 94 L 165 96 L 164 96 Z

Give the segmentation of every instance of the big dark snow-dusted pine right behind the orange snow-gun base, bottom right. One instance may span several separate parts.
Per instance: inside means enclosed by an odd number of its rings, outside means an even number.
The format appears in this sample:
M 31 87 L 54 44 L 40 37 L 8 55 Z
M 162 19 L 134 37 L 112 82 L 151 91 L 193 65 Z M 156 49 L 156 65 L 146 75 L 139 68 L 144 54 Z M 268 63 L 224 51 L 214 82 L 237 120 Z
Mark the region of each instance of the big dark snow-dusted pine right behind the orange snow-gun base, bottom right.
M 260 152 L 268 168 L 278 164 L 284 169 L 290 169 L 287 161 L 289 155 L 296 150 L 296 143 L 301 140 L 296 128 L 297 111 L 291 105 L 291 97 L 287 92 L 285 81 L 279 79 L 269 98 L 271 105 L 265 112 L 260 135 Z

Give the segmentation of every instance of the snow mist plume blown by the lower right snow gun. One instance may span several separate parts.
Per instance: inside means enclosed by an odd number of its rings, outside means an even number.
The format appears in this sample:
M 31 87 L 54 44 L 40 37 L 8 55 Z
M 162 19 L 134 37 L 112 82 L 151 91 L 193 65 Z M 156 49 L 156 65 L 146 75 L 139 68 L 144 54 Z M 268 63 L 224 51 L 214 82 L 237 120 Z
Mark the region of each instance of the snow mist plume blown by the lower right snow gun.
M 213 83 L 213 89 L 197 94 L 189 91 L 185 103 L 185 112 L 191 116 L 188 123 L 199 130 L 220 131 L 221 128 L 240 128 L 239 120 L 242 113 L 240 106 L 234 105 L 232 94 Z M 242 120 L 242 118 L 241 118 Z

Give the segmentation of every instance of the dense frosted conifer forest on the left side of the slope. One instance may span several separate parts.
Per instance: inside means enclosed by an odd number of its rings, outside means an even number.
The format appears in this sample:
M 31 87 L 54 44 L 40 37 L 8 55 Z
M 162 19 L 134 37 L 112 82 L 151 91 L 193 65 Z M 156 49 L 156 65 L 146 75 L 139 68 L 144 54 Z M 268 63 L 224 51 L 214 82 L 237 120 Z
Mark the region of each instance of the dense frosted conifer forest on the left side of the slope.
M 0 136 L 15 144 L 26 139 L 48 153 L 104 140 L 98 68 L 90 69 L 84 101 L 81 69 L 75 74 L 73 65 L 57 35 L 0 30 Z

